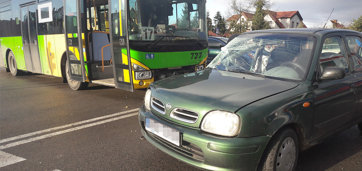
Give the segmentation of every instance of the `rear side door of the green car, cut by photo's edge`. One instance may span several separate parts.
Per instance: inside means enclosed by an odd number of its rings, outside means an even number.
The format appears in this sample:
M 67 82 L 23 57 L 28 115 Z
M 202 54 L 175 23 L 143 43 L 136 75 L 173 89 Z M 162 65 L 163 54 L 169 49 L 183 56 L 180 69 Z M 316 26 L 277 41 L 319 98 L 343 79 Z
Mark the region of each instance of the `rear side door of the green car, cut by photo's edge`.
M 356 85 L 359 91 L 359 101 L 357 104 L 356 115 L 353 119 L 358 120 L 362 118 L 362 38 L 361 35 L 358 34 L 347 35 L 345 38 L 348 49 L 347 53 L 353 61 L 353 66 L 355 70 L 354 75 L 356 76 L 358 81 L 358 84 Z

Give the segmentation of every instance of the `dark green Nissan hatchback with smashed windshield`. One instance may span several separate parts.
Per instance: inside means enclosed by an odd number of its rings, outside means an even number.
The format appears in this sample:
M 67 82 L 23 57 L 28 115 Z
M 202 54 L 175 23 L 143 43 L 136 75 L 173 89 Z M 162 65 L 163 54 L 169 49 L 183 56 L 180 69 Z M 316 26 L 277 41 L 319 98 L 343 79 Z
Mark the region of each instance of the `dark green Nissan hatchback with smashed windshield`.
M 203 70 L 150 85 L 142 135 L 203 170 L 294 171 L 299 151 L 362 130 L 361 38 L 341 29 L 243 33 Z

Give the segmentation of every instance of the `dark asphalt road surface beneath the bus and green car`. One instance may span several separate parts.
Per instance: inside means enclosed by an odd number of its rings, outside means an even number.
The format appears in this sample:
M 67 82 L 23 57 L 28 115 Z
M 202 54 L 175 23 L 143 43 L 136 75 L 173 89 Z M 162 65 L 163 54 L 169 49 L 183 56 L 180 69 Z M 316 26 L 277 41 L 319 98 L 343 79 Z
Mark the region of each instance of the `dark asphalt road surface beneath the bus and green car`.
M 95 84 L 74 91 L 62 78 L 0 68 L 0 170 L 200 171 L 140 139 L 144 93 Z M 362 171 L 361 131 L 300 152 L 297 171 Z

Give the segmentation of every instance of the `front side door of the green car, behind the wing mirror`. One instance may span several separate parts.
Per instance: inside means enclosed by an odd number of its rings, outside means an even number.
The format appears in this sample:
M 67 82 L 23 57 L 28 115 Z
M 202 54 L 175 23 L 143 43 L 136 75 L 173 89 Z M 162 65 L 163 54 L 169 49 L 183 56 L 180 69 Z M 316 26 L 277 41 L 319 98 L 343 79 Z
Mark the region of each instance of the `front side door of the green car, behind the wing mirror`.
M 342 36 L 329 34 L 324 36 L 322 45 L 338 44 L 337 50 L 319 51 L 317 70 L 320 75 L 323 69 L 330 66 L 343 67 L 346 76 L 338 80 L 314 82 L 314 119 L 312 140 L 323 137 L 349 124 L 354 118 L 358 91 L 357 79 L 351 70 L 351 61 L 347 58 Z M 318 77 L 318 76 L 317 76 Z

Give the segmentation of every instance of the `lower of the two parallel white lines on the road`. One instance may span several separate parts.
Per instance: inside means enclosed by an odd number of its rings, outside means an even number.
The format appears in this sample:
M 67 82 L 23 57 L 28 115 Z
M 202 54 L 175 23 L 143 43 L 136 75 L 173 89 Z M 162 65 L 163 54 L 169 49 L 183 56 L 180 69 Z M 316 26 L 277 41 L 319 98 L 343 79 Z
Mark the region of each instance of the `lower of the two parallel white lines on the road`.
M 10 148 L 10 147 L 14 147 L 14 146 L 19 146 L 19 145 L 22 145 L 22 144 L 25 144 L 25 143 L 30 143 L 30 142 L 33 142 L 33 141 L 38 141 L 38 140 L 41 140 L 41 139 L 44 139 L 44 138 L 52 137 L 52 136 L 55 136 L 55 135 L 60 135 L 60 134 L 67 133 L 67 132 L 70 132 L 70 131 L 79 130 L 79 129 L 83 129 L 83 128 L 88 128 L 88 127 L 104 124 L 104 123 L 107 123 L 107 122 L 112 122 L 112 121 L 115 121 L 115 120 L 135 116 L 137 114 L 138 113 L 131 113 L 131 114 L 128 114 L 128 115 L 123 115 L 123 116 L 115 117 L 115 118 L 112 118 L 112 119 L 107 119 L 107 120 L 104 120 L 104 121 L 99 121 L 99 122 L 95 122 L 95 123 L 91 123 L 91 124 L 87 124 L 87 125 L 83 125 L 83 126 L 79 126 L 79 127 L 75 127 L 75 128 L 69 128 L 69 129 L 66 129 L 66 130 L 61 130 L 61 131 L 58 131 L 58 132 L 53 132 L 53 133 L 37 136 L 37 137 L 34 137 L 34 138 L 29 138 L 29 139 L 26 139 L 26 140 L 6 144 L 6 145 L 3 145 L 3 146 L 0 146 L 0 150 L 7 149 L 7 148 Z

